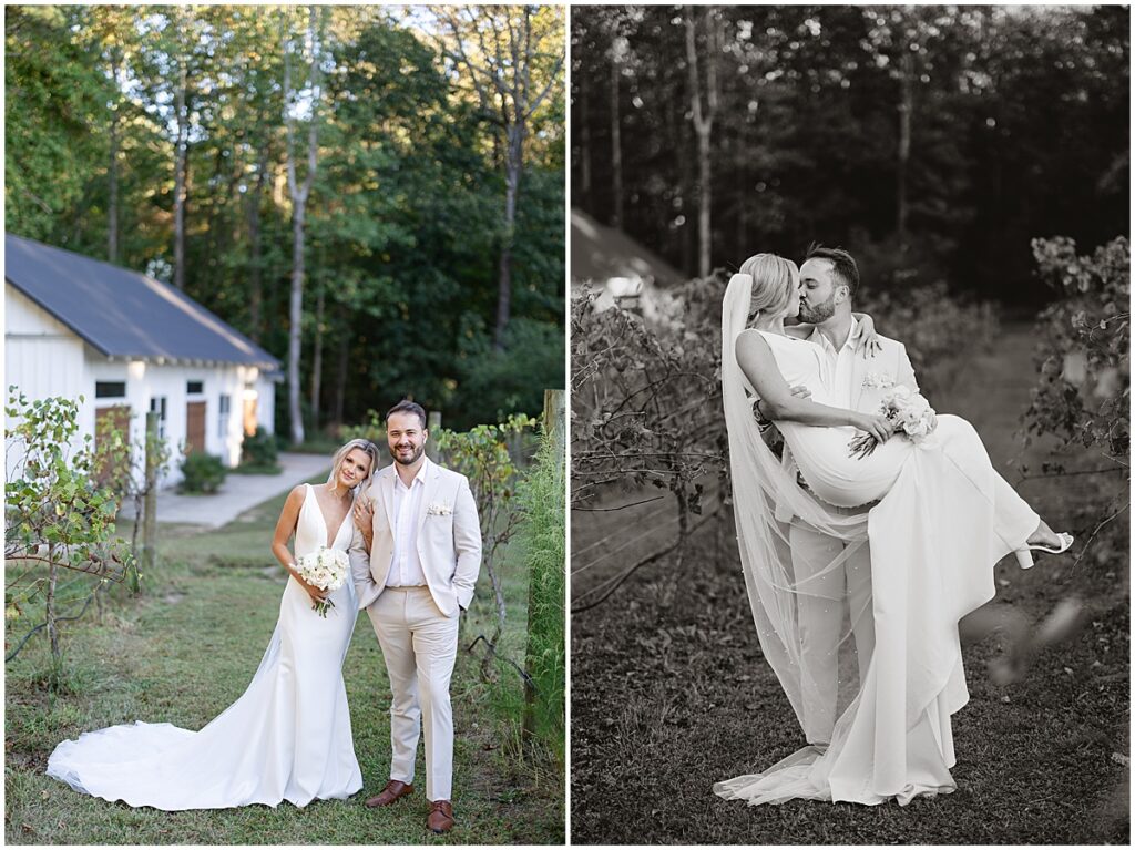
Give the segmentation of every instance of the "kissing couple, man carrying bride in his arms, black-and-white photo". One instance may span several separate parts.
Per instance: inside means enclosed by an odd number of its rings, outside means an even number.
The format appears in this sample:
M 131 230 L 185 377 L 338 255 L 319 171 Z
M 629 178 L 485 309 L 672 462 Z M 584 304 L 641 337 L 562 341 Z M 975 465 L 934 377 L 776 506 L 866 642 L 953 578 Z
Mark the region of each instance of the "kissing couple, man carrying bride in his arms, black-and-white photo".
M 1073 542 L 998 474 L 967 421 L 935 414 L 903 346 L 851 312 L 858 286 L 850 254 L 814 246 L 799 269 L 749 258 L 722 304 L 741 566 L 762 653 L 808 741 L 714 785 L 750 806 L 955 790 L 951 716 L 969 698 L 958 621 L 993 598 L 1002 557 L 1027 569 L 1033 550 Z M 785 326 L 797 317 L 809 323 Z M 858 689 L 841 695 L 851 636 Z

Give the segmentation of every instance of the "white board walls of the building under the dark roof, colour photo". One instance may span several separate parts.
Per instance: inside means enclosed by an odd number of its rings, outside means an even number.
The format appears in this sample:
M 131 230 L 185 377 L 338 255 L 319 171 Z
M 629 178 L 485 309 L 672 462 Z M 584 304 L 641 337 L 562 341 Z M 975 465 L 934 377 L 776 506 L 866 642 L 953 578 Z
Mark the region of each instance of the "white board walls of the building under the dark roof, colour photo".
M 208 454 L 235 466 L 246 424 L 274 430 L 275 386 L 257 367 L 109 359 L 15 287 L 6 285 L 5 291 L 6 389 L 16 385 L 28 399 L 82 395 L 79 439 L 94 436 L 98 411 L 128 405 L 131 441 L 141 451 L 145 413 L 151 405 L 163 406 L 161 428 L 175 451 L 203 436 Z M 203 435 L 200 428 L 191 435 L 191 419 L 202 415 Z M 162 483 L 180 478 L 175 460 Z

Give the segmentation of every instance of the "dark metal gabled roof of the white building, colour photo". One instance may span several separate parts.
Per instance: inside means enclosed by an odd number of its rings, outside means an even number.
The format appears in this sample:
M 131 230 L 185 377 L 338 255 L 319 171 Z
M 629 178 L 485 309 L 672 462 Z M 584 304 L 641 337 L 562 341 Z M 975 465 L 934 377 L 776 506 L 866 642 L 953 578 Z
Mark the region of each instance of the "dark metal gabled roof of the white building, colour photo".
M 5 278 L 109 357 L 279 368 L 193 298 L 136 271 L 5 234 Z

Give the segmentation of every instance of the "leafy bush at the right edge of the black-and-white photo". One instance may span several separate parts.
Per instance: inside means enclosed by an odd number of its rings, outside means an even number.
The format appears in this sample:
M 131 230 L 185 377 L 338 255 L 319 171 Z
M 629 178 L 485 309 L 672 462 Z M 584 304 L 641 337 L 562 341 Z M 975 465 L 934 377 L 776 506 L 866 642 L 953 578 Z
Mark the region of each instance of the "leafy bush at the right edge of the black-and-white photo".
M 1042 280 L 1060 294 L 1037 318 L 1040 372 L 1023 416 L 1026 445 L 1049 434 L 1126 465 L 1130 458 L 1130 245 L 1078 256 L 1065 236 L 1033 239 Z

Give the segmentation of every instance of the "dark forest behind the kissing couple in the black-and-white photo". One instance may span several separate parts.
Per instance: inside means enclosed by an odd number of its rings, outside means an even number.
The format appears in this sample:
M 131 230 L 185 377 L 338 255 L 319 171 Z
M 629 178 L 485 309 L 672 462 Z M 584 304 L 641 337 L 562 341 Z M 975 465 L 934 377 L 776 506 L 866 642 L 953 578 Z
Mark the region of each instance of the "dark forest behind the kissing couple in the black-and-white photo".
M 688 276 L 819 241 L 865 288 L 945 279 L 1035 312 L 1056 293 L 1032 238 L 1086 253 L 1129 228 L 1129 25 L 1124 7 L 573 7 L 572 201 Z

